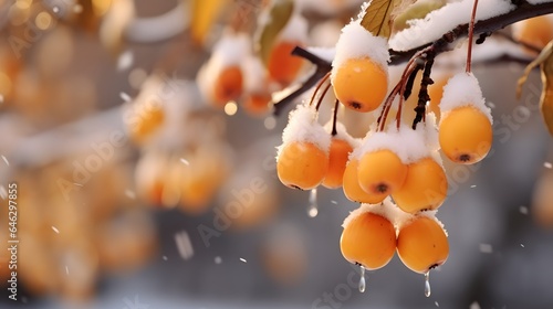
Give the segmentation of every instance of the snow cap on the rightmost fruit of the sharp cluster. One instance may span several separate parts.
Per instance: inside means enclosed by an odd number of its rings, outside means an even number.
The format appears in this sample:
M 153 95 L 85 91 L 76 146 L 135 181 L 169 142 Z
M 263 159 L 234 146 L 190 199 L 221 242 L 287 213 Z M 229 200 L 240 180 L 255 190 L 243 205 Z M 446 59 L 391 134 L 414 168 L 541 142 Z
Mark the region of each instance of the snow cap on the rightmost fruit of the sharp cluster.
M 458 73 L 444 86 L 444 96 L 440 102 L 441 119 L 455 108 L 472 106 L 482 111 L 492 122 L 491 109 L 486 106 L 482 89 L 472 73 Z M 492 122 L 493 124 L 493 122 Z

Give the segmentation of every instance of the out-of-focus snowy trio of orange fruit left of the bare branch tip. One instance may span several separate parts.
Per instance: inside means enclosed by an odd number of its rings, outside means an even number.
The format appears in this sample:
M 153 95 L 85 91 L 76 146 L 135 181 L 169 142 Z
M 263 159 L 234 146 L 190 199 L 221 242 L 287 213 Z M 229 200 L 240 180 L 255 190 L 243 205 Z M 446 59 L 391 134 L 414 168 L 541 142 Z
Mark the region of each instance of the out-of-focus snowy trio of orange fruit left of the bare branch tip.
M 249 115 L 268 114 L 272 93 L 288 87 L 303 67 L 304 61 L 291 53 L 305 44 L 306 32 L 305 19 L 294 14 L 263 62 L 254 54 L 254 43 L 247 33 L 227 30 L 197 76 L 205 100 L 219 108 L 240 102 Z

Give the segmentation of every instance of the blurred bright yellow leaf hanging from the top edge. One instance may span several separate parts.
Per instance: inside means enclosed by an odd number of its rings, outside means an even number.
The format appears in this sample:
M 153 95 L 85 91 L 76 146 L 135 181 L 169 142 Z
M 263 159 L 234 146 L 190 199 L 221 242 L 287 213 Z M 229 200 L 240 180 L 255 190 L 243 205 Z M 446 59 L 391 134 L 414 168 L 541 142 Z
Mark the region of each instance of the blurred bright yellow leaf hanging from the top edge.
M 192 0 L 190 34 L 196 43 L 202 44 L 228 0 Z

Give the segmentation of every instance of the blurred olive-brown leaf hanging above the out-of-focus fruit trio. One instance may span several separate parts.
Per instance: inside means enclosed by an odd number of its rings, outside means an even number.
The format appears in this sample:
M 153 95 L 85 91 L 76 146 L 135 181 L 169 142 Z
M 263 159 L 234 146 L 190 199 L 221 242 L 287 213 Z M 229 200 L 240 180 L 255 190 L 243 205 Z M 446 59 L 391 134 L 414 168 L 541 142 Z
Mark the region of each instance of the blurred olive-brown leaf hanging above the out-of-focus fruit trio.
M 269 55 L 273 47 L 274 41 L 279 36 L 280 32 L 284 26 L 286 26 L 292 13 L 294 11 L 293 0 L 280 0 L 275 1 L 272 7 L 268 7 L 269 12 L 263 12 L 269 14 L 269 19 L 264 25 L 261 25 L 261 32 L 259 32 L 257 40 L 257 52 L 263 63 L 267 65 L 269 61 Z

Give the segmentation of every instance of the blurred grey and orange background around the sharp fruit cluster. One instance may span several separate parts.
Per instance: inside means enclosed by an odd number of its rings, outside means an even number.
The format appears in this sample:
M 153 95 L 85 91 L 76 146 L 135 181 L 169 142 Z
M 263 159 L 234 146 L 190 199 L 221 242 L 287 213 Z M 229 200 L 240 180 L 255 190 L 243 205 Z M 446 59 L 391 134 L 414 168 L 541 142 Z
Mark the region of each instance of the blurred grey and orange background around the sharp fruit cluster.
M 362 1 L 296 2 L 300 43 L 331 47 Z M 291 107 L 272 117 L 267 103 L 313 67 L 302 61 L 261 98 L 254 74 L 236 100 L 206 95 L 228 25 L 254 38 L 265 4 L 0 0 L 0 308 L 553 308 L 553 145 L 539 72 L 520 100 L 514 86 L 533 55 L 474 66 L 493 152 L 471 167 L 446 162 L 450 196 L 438 217 L 450 255 L 430 276 L 431 296 L 397 256 L 367 271 L 361 294 L 359 269 L 338 246 L 357 205 L 321 188 L 309 213 L 310 192 L 275 173 Z M 369 117 L 343 113 L 362 137 Z

